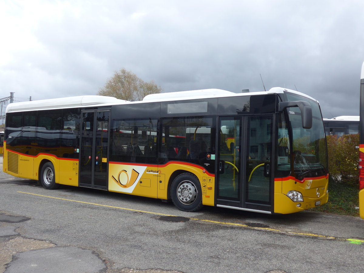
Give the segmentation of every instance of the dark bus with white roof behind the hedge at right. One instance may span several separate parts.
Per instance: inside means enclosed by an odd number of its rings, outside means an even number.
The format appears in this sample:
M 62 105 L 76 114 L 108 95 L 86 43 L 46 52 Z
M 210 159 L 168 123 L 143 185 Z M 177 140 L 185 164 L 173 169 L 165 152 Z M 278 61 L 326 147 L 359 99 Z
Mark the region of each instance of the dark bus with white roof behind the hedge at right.
M 359 116 L 337 116 L 336 118 L 324 118 L 326 135 L 359 134 Z

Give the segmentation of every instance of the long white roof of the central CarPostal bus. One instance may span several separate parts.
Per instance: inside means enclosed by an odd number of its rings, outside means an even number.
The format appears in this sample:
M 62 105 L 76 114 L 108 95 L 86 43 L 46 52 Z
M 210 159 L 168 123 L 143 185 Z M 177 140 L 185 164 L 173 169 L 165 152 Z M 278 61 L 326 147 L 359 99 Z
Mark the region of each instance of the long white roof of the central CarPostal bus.
M 234 92 L 221 90 L 221 89 L 202 89 L 202 90 L 150 94 L 150 95 L 145 96 L 145 98 L 142 101 L 133 101 L 133 102 L 130 102 L 127 100 L 116 99 L 114 97 L 109 97 L 109 96 L 96 96 L 96 95 L 75 96 L 75 97 L 67 97 L 67 98 L 59 98 L 59 99 L 32 100 L 30 102 L 10 103 L 6 107 L 6 112 L 74 108 L 74 107 L 83 107 L 83 106 L 92 106 L 92 105 L 108 106 L 108 105 L 115 105 L 115 104 L 162 102 L 162 101 L 170 101 L 170 100 L 175 101 L 175 100 L 186 100 L 186 99 L 207 99 L 207 98 L 221 98 L 221 97 L 233 97 L 233 96 L 282 94 L 284 91 L 304 96 L 304 97 L 312 99 L 318 103 L 317 100 L 311 98 L 308 95 L 305 95 L 298 91 L 282 88 L 282 87 L 273 87 L 273 88 L 270 88 L 270 90 L 268 90 L 268 91 L 249 92 L 249 93 L 234 93 Z

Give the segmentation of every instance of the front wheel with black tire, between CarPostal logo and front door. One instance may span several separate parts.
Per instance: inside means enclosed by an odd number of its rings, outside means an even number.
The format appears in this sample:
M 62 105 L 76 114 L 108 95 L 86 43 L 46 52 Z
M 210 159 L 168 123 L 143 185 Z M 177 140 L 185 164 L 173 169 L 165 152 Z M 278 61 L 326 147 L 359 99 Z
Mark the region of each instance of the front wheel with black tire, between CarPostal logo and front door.
M 171 198 L 174 205 L 183 211 L 197 211 L 203 207 L 201 184 L 190 173 L 178 175 L 172 182 Z

